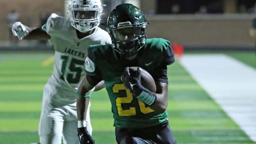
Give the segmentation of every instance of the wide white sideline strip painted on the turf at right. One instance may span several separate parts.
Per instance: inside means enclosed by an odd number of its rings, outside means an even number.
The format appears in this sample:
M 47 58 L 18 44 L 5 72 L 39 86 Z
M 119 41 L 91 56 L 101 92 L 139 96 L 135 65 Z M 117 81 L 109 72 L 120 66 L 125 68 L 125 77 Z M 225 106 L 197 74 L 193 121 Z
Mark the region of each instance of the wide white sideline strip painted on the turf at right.
M 256 142 L 256 69 L 224 54 L 185 54 L 180 63 Z

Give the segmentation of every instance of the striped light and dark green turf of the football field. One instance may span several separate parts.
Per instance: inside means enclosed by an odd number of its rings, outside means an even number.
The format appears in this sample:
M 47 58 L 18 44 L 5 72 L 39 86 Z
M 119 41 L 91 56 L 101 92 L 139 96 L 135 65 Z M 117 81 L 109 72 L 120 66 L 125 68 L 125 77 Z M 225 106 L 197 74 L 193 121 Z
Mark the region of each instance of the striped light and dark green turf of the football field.
M 254 52 L 225 52 L 256 69 Z M 0 52 L 0 144 L 38 142 L 43 87 L 53 52 Z M 178 60 L 168 66 L 170 127 L 178 144 L 255 144 L 199 86 Z M 113 116 L 104 90 L 91 97 L 97 144 L 114 144 Z

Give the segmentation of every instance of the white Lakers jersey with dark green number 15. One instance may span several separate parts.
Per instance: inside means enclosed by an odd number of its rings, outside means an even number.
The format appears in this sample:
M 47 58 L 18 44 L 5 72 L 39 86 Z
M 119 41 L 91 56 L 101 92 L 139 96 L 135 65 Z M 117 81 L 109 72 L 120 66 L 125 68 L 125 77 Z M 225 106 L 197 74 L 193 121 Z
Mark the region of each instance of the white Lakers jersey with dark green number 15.
M 50 15 L 42 29 L 50 35 L 49 43 L 53 44 L 55 50 L 53 73 L 48 84 L 76 93 L 86 74 L 84 62 L 87 57 L 87 49 L 90 45 L 110 44 L 109 34 L 96 27 L 91 35 L 79 39 L 70 20 L 56 14 Z M 60 98 L 75 100 L 76 97 Z

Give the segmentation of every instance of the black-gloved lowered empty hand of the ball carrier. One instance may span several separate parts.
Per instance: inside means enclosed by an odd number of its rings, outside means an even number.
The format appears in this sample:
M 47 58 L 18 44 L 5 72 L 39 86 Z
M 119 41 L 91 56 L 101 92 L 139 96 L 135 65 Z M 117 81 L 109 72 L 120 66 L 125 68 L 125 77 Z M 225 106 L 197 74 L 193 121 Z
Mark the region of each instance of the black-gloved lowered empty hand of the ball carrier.
M 86 127 L 78 128 L 78 137 L 80 144 L 95 144 Z

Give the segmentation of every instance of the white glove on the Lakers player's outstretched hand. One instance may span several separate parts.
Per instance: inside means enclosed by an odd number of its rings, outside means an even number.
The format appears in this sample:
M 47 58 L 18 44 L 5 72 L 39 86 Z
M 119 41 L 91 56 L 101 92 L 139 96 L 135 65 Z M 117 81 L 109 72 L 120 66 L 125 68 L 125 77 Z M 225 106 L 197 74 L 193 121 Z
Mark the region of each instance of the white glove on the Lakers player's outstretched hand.
M 23 39 L 25 36 L 27 36 L 28 31 L 26 30 L 26 27 L 21 22 L 15 22 L 12 25 L 12 33 L 14 36 L 18 37 L 18 39 Z

